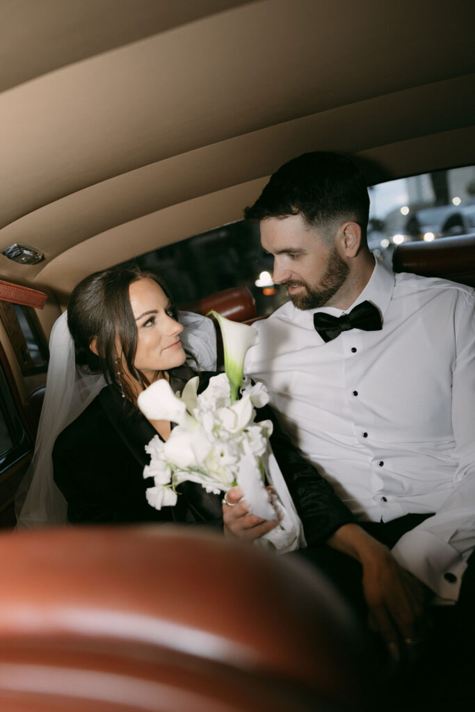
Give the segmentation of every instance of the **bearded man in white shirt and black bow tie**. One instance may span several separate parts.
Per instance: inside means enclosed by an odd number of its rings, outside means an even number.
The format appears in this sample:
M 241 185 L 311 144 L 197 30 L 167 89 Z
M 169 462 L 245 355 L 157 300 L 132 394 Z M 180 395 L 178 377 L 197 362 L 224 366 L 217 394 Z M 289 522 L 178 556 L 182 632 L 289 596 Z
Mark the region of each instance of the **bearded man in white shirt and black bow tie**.
M 246 374 L 355 517 L 313 555 L 400 649 L 430 599 L 469 600 L 474 290 L 387 270 L 368 212 L 360 170 L 324 152 L 283 165 L 246 209 L 291 298 L 255 325 Z M 232 531 L 242 518 L 227 509 Z

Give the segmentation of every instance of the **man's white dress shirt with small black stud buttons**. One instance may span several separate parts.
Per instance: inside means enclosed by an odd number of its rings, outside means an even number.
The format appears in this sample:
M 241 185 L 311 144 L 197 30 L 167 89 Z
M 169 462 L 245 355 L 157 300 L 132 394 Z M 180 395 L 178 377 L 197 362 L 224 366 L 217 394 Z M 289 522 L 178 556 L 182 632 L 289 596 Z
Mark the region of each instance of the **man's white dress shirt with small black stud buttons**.
M 369 300 L 381 331 L 325 343 L 313 314 Z M 474 290 L 376 261 L 348 310 L 284 304 L 255 324 L 246 374 L 268 386 L 283 429 L 359 520 L 436 513 L 392 550 L 456 600 L 475 546 Z

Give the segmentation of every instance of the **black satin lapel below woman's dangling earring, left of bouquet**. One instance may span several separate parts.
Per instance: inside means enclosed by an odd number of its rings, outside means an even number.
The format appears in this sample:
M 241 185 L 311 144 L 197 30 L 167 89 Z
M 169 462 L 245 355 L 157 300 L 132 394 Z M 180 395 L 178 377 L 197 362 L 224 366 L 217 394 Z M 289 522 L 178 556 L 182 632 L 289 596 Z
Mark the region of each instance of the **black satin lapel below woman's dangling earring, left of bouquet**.
M 155 428 L 113 386 L 103 388 L 99 394 L 100 405 L 113 424 L 118 436 L 143 468 L 150 462 L 145 445 L 157 435 Z

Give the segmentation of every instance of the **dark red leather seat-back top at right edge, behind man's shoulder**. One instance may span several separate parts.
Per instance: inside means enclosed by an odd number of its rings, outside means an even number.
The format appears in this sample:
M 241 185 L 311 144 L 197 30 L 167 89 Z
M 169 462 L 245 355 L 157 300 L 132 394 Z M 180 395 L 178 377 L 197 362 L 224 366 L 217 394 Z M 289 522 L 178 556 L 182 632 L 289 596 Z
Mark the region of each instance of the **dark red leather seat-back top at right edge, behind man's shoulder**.
M 392 265 L 395 272 L 443 277 L 475 287 L 475 235 L 399 245 Z

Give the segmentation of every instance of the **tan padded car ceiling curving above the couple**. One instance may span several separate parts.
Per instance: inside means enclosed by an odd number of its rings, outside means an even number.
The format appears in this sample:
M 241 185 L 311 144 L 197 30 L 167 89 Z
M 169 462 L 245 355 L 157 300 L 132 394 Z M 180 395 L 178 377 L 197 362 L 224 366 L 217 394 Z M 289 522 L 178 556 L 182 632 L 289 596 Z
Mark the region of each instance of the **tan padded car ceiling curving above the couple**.
M 0 0 L 0 277 L 81 278 L 240 219 L 306 150 L 475 162 L 471 0 Z

